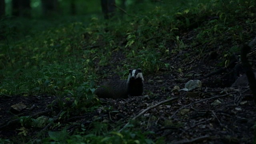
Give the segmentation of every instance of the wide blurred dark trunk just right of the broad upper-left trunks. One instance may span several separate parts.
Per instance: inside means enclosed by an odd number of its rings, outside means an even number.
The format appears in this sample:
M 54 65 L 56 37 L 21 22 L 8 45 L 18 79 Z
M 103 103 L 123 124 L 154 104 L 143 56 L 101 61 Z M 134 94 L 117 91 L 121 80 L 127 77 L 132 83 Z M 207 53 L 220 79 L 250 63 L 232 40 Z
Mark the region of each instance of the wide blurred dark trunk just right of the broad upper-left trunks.
M 43 14 L 50 16 L 52 12 L 57 12 L 58 0 L 41 0 Z

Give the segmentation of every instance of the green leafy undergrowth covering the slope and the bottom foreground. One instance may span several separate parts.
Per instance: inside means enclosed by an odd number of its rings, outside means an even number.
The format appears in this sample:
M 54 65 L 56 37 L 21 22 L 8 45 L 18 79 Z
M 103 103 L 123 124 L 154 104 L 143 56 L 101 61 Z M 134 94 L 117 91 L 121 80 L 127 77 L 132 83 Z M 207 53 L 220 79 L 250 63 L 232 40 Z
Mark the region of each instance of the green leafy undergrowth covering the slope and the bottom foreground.
M 0 96 L 54 95 L 60 101 L 74 99 L 69 111 L 76 110 L 76 114 L 94 110 L 100 106 L 100 101 L 93 92 L 100 78 L 108 76 L 106 69 L 102 69 L 104 66 L 110 66 L 122 78 L 126 78 L 129 68 L 142 68 L 144 74 L 157 74 L 161 69 L 169 70 L 172 64 L 165 60 L 172 54 L 191 49 L 198 52 L 200 58 L 216 49 L 220 42 L 231 48 L 230 52 L 222 54 L 225 61 L 224 57 L 238 51 L 236 45 L 255 29 L 254 0 L 174 3 L 168 0 L 164 4 L 151 3 L 147 9 L 140 7 L 135 12 L 128 8 L 132 16 L 112 20 L 89 16 L 86 23 L 72 22 L 44 30 L 38 27 L 33 32 L 19 27 L 19 21 L 10 25 L 12 20 L 2 18 Z M 196 34 L 192 42 L 181 38 L 190 30 Z M 196 45 L 206 46 L 198 48 Z M 113 54 L 118 52 L 124 58 L 112 63 Z M 65 108 L 63 103 L 59 106 Z M 90 130 L 85 131 L 88 127 L 84 127 L 73 135 L 65 128 L 60 132 L 48 132 L 49 137 L 38 138 L 37 142 L 158 143 L 147 139 L 151 132 L 134 128 L 116 132 L 118 129 L 106 126 L 107 123 L 100 128 L 93 124 Z M 0 142 L 8 140 L 0 139 Z

